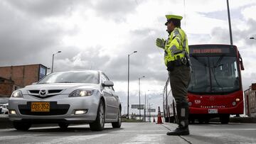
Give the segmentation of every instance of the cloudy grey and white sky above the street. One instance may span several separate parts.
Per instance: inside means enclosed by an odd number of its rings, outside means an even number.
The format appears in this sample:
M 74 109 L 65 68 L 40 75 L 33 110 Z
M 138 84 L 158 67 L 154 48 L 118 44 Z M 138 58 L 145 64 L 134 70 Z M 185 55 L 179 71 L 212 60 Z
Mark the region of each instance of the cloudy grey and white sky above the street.
M 243 88 L 256 82 L 256 1 L 230 0 L 233 44 L 242 55 Z M 127 109 L 127 55 L 130 104 L 138 104 L 138 77 L 153 107 L 161 106 L 167 79 L 156 38 L 166 38 L 166 14 L 183 16 L 188 43 L 229 44 L 225 0 L 2 0 L 0 66 L 43 64 L 54 71 L 102 70 Z M 127 110 L 125 110 L 127 111 Z M 124 111 L 123 111 L 124 112 Z M 132 110 L 132 112 L 136 112 Z

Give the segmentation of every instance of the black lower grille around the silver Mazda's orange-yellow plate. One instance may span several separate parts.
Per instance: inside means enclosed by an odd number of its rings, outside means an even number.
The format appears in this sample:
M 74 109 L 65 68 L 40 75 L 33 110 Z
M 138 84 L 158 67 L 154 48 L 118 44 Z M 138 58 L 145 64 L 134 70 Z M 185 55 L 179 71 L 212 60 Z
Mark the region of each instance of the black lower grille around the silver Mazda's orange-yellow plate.
M 57 104 L 56 101 L 50 101 L 49 112 L 31 112 L 31 101 L 28 101 L 25 105 L 18 105 L 18 111 L 23 115 L 30 116 L 53 116 L 53 115 L 64 115 L 70 108 L 69 104 Z

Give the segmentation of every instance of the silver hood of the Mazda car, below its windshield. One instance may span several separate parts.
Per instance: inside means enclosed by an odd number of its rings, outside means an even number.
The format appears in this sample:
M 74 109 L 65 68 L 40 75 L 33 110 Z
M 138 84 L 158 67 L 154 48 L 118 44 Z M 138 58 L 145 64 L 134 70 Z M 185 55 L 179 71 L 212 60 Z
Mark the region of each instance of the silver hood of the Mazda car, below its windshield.
M 70 94 L 76 89 L 100 89 L 100 84 L 85 84 L 85 83 L 54 83 L 54 84 L 33 84 L 24 87 L 21 90 L 22 94 L 28 94 L 31 90 L 61 90 L 60 94 Z

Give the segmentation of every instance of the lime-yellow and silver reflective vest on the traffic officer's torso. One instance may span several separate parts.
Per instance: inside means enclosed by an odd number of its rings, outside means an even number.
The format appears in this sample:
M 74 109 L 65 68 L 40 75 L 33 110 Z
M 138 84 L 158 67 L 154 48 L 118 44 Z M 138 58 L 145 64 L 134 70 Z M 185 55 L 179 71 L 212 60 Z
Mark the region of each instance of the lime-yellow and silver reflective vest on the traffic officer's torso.
M 164 63 L 177 60 L 177 57 L 185 57 L 189 54 L 188 39 L 186 33 L 181 28 L 174 28 L 165 44 Z

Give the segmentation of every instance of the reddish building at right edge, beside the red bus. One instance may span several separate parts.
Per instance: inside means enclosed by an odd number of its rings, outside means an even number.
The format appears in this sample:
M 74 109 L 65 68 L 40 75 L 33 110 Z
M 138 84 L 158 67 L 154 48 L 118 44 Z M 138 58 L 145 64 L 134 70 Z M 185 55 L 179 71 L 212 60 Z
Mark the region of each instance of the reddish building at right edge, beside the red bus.
M 245 114 L 256 117 L 256 84 L 245 90 Z

